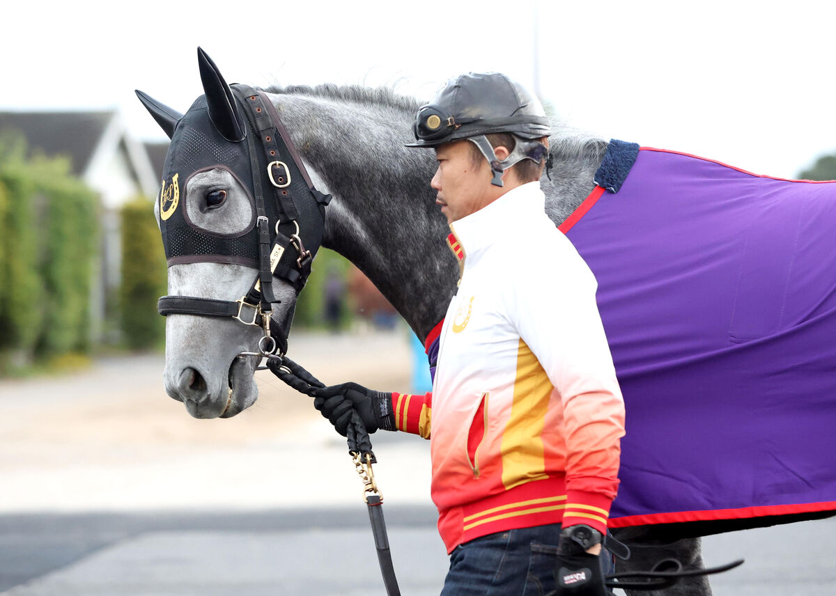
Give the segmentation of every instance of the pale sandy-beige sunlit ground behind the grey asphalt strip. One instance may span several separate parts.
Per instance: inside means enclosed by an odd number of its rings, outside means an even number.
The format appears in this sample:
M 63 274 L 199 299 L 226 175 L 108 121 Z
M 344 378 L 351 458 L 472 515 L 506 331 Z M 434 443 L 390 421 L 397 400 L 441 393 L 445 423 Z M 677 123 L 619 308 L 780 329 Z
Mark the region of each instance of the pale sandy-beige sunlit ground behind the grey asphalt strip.
M 409 388 L 405 332 L 302 335 L 291 345 L 325 382 Z M 298 507 L 288 486 L 307 507 L 354 503 L 359 480 L 344 440 L 310 398 L 261 371 L 250 409 L 195 420 L 166 396 L 162 370 L 162 356 L 140 356 L 69 377 L 0 382 L 0 486 L 11 487 L 0 513 Z M 374 441 L 392 444 L 376 466 L 391 478 L 387 496 L 426 503 L 429 443 L 388 435 Z

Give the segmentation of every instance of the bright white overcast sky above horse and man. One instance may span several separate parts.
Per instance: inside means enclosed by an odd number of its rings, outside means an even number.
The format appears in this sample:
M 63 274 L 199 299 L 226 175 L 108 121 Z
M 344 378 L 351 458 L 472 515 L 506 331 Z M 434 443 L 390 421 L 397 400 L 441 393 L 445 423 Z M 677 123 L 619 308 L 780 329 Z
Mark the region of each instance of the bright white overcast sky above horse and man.
M 785 177 L 836 150 L 832 3 L 535 2 L 273 0 L 261 38 L 232 2 L 12 3 L 0 110 L 117 107 L 159 139 L 133 89 L 185 111 L 201 93 L 201 45 L 229 82 L 388 84 L 420 98 L 467 70 L 533 85 L 538 64 L 543 99 L 605 138 Z

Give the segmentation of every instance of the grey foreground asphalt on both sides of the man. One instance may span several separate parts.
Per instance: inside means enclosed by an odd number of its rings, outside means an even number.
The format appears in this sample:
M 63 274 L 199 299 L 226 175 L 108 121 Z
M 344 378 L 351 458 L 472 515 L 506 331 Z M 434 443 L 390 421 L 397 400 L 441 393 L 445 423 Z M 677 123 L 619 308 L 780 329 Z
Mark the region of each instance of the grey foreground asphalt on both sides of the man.
M 434 512 L 386 507 L 402 592 L 437 594 L 447 562 Z M 832 596 L 834 530 L 826 520 L 707 537 L 707 564 L 747 558 L 712 580 L 715 596 Z M 383 594 L 379 573 L 360 506 L 0 517 L 3 596 Z

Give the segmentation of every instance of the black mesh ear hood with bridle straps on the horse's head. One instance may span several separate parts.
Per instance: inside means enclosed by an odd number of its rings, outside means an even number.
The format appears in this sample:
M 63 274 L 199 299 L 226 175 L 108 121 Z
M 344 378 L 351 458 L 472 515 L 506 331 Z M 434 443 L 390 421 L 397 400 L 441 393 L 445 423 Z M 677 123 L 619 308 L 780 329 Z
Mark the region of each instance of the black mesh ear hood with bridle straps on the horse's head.
M 227 85 L 212 59 L 197 48 L 205 94 L 185 115 L 137 91 L 142 104 L 171 138 L 159 197 L 160 229 L 169 266 L 191 262 L 237 263 L 257 269 L 246 295 L 238 300 L 163 296 L 163 315 L 231 317 L 263 327 L 259 353 L 287 351 L 287 331 L 271 318 L 273 276 L 298 294 L 322 244 L 325 206 L 330 196 L 314 188 L 303 161 L 270 99 L 247 85 Z M 252 218 L 237 234 L 221 234 L 192 224 L 186 189 L 197 173 L 223 169 L 247 192 Z M 307 245 L 307 247 L 306 247 Z M 278 341 L 270 342 L 271 332 Z

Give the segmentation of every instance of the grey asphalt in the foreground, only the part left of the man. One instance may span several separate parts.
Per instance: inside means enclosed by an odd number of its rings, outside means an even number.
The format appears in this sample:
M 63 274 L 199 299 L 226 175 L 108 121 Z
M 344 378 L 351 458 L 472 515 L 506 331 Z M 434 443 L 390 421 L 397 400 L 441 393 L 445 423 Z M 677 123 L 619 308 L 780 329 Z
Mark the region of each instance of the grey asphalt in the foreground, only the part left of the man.
M 446 554 L 434 520 L 429 507 L 387 511 L 395 568 L 406 594 L 438 593 Z M 0 593 L 382 593 L 368 524 L 359 504 L 222 516 L 6 516 L 0 518 Z

